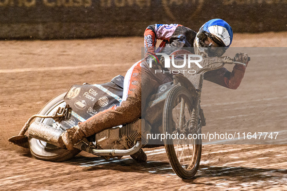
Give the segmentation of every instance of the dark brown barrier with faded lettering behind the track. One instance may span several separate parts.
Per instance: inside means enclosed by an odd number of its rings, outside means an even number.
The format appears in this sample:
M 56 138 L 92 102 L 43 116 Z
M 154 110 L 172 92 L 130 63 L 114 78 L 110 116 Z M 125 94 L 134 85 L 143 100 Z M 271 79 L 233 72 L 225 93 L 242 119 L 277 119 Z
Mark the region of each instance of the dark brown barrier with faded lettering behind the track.
M 154 23 L 197 31 L 222 18 L 235 32 L 287 30 L 287 0 L 0 0 L 0 38 L 143 35 Z

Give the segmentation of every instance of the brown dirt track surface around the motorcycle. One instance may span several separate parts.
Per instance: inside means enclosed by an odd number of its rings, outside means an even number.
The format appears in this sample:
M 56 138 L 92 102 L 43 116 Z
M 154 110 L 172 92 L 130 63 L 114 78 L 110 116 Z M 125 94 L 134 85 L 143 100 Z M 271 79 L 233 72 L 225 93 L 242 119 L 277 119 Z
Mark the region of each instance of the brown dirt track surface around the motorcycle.
M 54 163 L 34 159 L 28 149 L 7 142 L 71 85 L 124 75 L 140 60 L 142 44 L 140 37 L 0 43 L 0 190 L 287 190 L 286 145 L 203 145 L 198 173 L 182 180 L 173 173 L 164 147 L 146 149 L 148 162 L 143 164 L 83 152 Z M 287 32 L 235 34 L 233 46 L 287 47 Z M 206 128 L 287 128 L 286 60 L 280 54 L 252 54 L 237 90 L 204 83 Z

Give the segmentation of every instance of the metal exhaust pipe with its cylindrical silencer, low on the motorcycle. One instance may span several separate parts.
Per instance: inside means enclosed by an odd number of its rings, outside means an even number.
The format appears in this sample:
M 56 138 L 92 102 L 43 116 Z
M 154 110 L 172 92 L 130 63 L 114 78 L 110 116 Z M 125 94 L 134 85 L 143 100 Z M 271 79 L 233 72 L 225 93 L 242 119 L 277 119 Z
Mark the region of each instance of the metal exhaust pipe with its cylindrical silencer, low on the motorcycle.
M 45 141 L 55 146 L 66 148 L 62 139 L 60 138 L 62 133 L 65 132 L 60 128 L 47 126 L 42 123 L 34 122 L 30 125 L 28 133 L 30 137 Z M 86 143 L 79 142 L 74 145 L 75 148 L 82 151 L 86 151 L 97 156 L 128 156 L 133 155 L 139 149 L 141 149 L 141 141 L 137 141 L 135 145 L 130 149 L 95 149 L 92 146 L 88 146 Z

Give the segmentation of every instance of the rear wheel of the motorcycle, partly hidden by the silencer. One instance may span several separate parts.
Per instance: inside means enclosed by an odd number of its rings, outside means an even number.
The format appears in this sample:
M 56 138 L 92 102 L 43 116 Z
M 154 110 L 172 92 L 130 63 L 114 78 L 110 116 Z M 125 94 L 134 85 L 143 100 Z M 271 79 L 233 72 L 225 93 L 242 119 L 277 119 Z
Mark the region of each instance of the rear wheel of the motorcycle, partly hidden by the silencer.
M 51 101 L 49 101 L 40 111 L 38 114 L 41 115 L 50 115 L 52 112 L 56 111 L 59 107 L 65 107 L 66 103 L 64 102 L 64 96 L 66 93 L 63 93 L 59 96 L 56 96 Z M 35 122 L 40 122 L 45 125 L 52 126 L 55 122 L 51 118 L 43 119 L 43 118 L 36 118 Z M 67 150 L 57 146 L 54 146 L 50 143 L 46 143 L 44 141 L 40 141 L 29 137 L 29 147 L 31 154 L 36 159 L 53 161 L 53 162 L 61 162 L 68 159 L 71 159 L 81 151 L 78 149 Z

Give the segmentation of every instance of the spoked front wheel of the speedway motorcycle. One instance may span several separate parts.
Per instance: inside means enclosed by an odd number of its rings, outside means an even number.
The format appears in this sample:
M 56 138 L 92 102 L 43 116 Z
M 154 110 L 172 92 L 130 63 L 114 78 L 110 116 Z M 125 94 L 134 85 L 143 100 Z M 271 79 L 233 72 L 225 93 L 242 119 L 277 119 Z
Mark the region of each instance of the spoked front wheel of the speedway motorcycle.
M 185 87 L 174 86 L 169 91 L 163 112 L 163 133 L 171 135 L 164 140 L 169 163 L 182 179 L 190 179 L 196 174 L 202 152 L 201 139 L 192 136 L 200 134 L 201 128 L 189 127 L 194 110 L 190 97 Z

